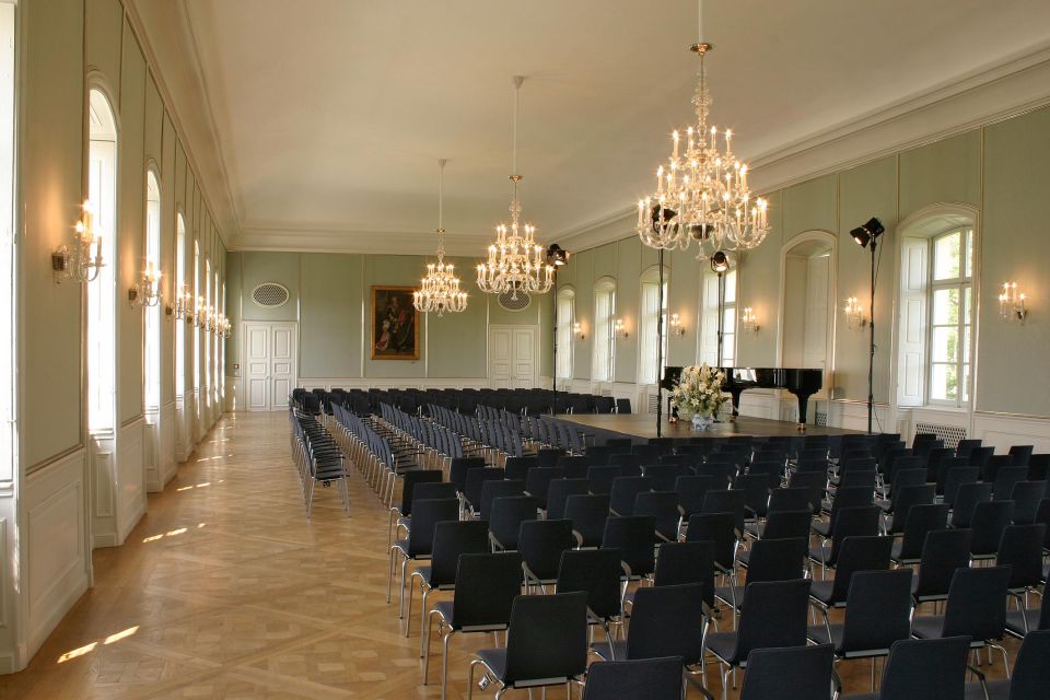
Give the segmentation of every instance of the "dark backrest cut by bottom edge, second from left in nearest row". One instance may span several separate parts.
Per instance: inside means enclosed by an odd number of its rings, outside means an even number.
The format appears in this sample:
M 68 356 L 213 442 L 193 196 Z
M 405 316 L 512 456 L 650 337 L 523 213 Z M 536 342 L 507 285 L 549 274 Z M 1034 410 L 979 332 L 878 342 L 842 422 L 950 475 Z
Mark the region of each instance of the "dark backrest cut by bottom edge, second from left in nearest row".
M 833 664 L 830 644 L 756 649 L 747 656 L 740 700 L 824 700 Z

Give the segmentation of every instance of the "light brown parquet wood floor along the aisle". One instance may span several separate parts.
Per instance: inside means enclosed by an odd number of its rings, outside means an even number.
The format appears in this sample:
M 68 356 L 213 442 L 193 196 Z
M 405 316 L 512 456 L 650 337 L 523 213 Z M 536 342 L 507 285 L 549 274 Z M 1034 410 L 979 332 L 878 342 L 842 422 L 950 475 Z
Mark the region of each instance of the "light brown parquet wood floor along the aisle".
M 418 618 L 406 639 L 385 603 L 385 509 L 354 474 L 351 517 L 332 489 L 307 520 L 287 421 L 223 418 L 127 542 L 94 552 L 94 587 L 26 670 L 0 677 L 0 698 L 439 698 L 440 644 L 422 686 Z M 469 652 L 490 644 L 454 640 L 450 698 L 466 697 Z M 848 690 L 867 688 L 867 662 L 839 668 Z M 721 688 L 713 666 L 708 687 Z

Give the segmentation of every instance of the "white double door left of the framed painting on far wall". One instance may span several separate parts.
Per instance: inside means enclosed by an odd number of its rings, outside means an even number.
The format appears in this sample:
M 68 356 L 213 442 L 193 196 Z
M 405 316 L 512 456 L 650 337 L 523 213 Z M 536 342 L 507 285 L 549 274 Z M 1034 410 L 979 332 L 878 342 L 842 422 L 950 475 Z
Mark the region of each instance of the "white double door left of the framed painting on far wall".
M 285 409 L 299 366 L 296 324 L 245 322 L 241 337 L 245 407 L 249 411 Z

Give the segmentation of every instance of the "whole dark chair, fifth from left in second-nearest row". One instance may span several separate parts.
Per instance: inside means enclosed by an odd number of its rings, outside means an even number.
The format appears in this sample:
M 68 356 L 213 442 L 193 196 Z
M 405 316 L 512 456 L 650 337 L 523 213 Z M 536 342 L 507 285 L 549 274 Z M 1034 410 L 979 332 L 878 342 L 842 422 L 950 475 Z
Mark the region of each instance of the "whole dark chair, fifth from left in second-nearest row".
M 917 639 L 969 637 L 970 649 L 998 649 L 1008 667 L 1006 650 L 992 643 L 1006 633 L 1008 585 L 1010 567 L 956 569 L 944 604 L 944 615 L 914 617 L 911 620 L 911 635 Z

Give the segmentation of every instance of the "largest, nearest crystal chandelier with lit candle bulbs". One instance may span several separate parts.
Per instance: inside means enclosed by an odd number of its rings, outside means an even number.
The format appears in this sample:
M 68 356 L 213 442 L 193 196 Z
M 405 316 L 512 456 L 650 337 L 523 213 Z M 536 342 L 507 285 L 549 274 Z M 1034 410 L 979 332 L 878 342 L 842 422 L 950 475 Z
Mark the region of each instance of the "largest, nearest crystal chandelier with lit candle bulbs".
M 686 129 L 685 143 L 680 132 L 672 133 L 667 165 L 656 168 L 656 191 L 638 202 L 637 231 L 653 248 L 684 250 L 695 240 L 700 247 L 697 258 L 702 259 L 715 250 L 758 246 L 769 233 L 769 222 L 766 200 L 751 196 L 747 165 L 733 152 L 733 131 L 720 135 L 708 124 L 712 100 L 704 59 L 714 46 L 703 40 L 703 0 L 699 5 L 700 40 L 690 47 L 700 56 L 692 98 L 697 124 Z

